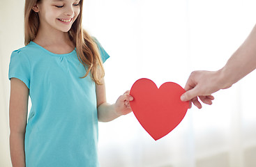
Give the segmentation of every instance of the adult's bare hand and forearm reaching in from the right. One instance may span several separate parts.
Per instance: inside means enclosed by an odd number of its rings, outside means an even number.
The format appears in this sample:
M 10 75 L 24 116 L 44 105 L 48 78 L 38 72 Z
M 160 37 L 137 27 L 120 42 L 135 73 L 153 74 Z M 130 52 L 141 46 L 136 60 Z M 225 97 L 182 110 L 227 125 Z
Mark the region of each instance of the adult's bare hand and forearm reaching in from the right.
M 182 101 L 190 100 L 199 109 L 202 105 L 198 98 L 205 104 L 212 104 L 215 93 L 220 89 L 229 88 L 232 84 L 245 77 L 247 74 L 256 69 L 256 25 L 243 44 L 229 58 L 226 65 L 215 72 L 211 71 L 194 71 L 190 74 L 185 90 L 181 95 Z

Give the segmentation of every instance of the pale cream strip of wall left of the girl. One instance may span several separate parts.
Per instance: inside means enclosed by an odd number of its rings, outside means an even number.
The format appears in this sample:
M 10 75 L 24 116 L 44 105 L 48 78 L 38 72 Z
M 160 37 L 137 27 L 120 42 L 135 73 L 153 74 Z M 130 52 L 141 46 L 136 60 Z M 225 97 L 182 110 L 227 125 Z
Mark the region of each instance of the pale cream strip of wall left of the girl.
M 24 0 L 0 1 L 0 166 L 9 167 L 8 65 L 13 50 L 24 41 Z

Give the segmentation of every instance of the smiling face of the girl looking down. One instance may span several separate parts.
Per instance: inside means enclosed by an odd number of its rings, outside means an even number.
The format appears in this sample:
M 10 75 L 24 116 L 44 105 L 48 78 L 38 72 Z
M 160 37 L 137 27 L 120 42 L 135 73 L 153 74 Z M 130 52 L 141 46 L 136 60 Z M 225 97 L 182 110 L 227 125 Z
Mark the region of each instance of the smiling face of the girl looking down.
M 80 13 L 80 0 L 41 0 L 33 10 L 40 26 L 68 32 Z

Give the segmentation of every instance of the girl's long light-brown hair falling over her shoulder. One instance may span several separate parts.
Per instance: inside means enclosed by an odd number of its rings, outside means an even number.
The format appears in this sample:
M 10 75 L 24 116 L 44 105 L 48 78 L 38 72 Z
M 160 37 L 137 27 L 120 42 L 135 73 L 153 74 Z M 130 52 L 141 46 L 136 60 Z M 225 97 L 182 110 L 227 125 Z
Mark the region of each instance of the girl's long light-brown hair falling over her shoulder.
M 24 30 L 25 39 L 24 44 L 28 45 L 33 39 L 36 38 L 39 28 L 39 17 L 38 13 L 33 11 L 33 6 L 42 0 L 26 0 L 24 8 Z M 91 38 L 89 33 L 82 29 L 82 6 L 83 0 L 80 1 L 80 14 L 71 26 L 68 35 L 70 40 L 73 42 L 77 50 L 77 57 L 84 65 L 86 74 L 84 77 L 91 74 L 91 79 L 96 83 L 100 84 L 100 79 L 105 75 L 103 68 L 103 62 L 100 58 L 98 47 L 96 42 Z M 81 77 L 81 78 L 84 78 Z

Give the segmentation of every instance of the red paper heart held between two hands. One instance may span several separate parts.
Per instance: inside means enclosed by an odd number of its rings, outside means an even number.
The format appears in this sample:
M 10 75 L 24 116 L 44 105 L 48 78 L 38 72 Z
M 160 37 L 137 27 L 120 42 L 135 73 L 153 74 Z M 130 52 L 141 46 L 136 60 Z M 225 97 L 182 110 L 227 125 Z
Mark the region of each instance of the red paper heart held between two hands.
M 189 102 L 180 100 L 185 92 L 173 82 L 158 88 L 150 79 L 139 79 L 130 89 L 134 98 L 130 107 L 146 132 L 158 140 L 169 134 L 186 115 Z

